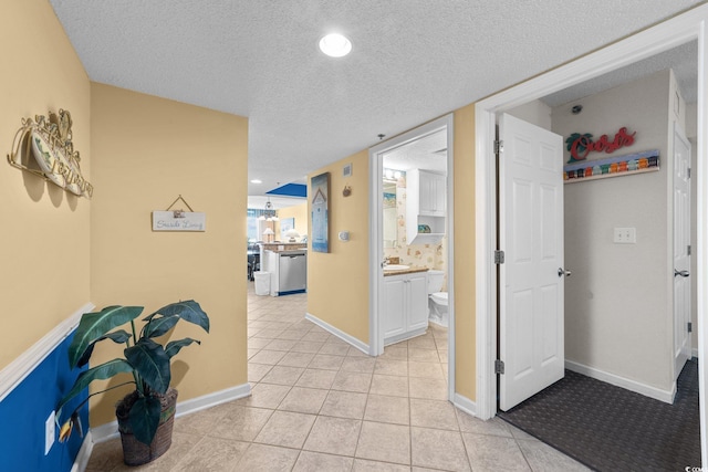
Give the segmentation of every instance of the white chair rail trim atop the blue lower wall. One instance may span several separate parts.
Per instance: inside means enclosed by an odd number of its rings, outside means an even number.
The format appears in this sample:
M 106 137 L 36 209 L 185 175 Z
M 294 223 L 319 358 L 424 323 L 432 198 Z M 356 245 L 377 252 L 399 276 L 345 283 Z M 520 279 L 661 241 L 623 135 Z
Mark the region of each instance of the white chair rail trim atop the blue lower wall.
M 4 369 L 0 370 L 0 401 L 4 400 L 74 331 L 79 325 L 81 315 L 91 312 L 94 307 L 93 303 L 84 304 L 34 343 L 32 347 L 8 364 Z

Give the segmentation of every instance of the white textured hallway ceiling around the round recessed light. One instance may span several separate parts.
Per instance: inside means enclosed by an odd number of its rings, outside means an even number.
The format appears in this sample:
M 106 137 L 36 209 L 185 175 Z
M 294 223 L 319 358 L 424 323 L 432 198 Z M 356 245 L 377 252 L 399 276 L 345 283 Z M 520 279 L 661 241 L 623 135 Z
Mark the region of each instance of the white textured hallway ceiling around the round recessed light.
M 94 82 L 249 118 L 249 195 L 687 10 L 691 0 L 50 0 Z M 320 38 L 348 35 L 331 59 Z M 247 182 L 243 181 L 246 185 Z

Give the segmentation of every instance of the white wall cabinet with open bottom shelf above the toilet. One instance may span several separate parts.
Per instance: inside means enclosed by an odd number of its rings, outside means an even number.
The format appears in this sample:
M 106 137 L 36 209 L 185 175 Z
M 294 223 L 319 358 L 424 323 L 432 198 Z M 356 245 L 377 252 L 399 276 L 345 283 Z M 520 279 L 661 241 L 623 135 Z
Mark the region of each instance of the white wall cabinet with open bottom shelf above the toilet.
M 424 169 L 406 172 L 406 241 L 437 243 L 445 235 L 447 178 Z

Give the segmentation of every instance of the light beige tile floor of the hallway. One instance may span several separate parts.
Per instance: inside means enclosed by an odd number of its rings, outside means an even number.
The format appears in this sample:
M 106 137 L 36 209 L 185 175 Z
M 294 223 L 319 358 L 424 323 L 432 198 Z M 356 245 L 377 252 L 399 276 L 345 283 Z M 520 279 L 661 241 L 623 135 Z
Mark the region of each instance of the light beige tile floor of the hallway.
M 149 464 L 124 465 L 115 439 L 95 444 L 86 470 L 586 470 L 448 402 L 446 329 L 431 325 L 373 358 L 305 312 L 304 294 L 257 296 L 249 284 L 251 397 L 177 418 L 170 450 Z

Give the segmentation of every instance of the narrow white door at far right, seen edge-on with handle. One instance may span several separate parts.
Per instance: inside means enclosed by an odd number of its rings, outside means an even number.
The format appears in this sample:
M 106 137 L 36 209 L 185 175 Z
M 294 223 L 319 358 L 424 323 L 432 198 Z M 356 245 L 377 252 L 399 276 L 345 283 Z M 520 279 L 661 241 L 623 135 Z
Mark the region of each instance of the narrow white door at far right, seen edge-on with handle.
M 690 143 L 674 124 L 674 378 L 690 357 Z

